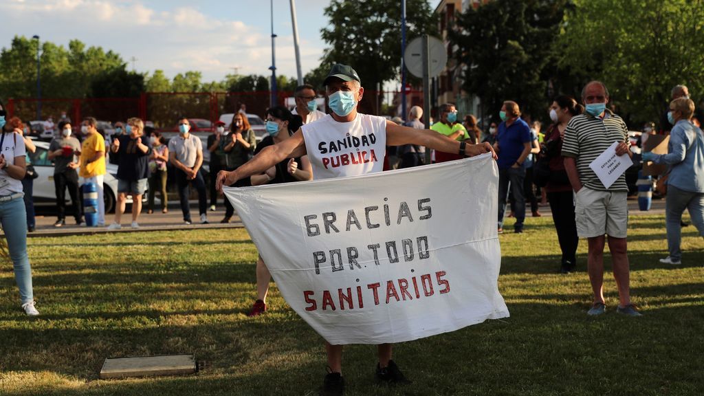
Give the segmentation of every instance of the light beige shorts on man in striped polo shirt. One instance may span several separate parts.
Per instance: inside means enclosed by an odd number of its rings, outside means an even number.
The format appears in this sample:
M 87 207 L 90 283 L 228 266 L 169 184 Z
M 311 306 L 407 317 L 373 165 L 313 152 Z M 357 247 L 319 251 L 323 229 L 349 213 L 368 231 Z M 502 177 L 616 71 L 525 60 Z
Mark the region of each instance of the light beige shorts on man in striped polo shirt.
M 625 191 L 598 191 L 582 187 L 574 195 L 574 220 L 577 235 L 583 238 L 607 234 L 624 238 L 628 228 L 628 203 Z

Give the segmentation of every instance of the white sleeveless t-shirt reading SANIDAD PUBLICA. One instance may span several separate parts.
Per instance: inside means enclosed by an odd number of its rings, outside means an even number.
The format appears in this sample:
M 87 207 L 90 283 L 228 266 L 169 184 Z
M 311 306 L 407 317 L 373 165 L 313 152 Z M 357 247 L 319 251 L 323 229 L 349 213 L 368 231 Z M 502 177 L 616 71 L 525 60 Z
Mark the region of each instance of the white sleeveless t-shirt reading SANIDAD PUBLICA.
M 386 118 L 357 113 L 339 123 L 332 116 L 301 127 L 313 177 L 318 179 L 366 175 L 384 170 Z

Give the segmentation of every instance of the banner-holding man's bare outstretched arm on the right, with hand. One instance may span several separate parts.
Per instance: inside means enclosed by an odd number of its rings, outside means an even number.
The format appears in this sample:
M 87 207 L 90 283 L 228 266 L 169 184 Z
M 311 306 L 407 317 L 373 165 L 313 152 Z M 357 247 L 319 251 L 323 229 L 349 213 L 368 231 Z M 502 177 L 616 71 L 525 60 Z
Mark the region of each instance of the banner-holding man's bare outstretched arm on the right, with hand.
M 417 144 L 445 153 L 458 153 L 460 142 L 429 129 L 415 129 L 398 125 L 389 120 L 386 121 L 386 144 L 389 146 L 400 146 L 401 144 Z M 485 144 L 467 144 L 465 154 L 476 156 L 491 152 L 494 159 L 496 153 L 488 142 Z

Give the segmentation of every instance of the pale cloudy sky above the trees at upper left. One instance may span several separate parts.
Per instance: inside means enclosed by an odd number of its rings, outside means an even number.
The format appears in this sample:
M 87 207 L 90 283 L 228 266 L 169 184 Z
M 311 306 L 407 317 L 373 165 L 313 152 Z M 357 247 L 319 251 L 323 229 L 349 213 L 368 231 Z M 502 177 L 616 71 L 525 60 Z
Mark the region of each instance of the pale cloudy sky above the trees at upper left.
M 138 71 L 162 69 L 173 77 L 197 70 L 204 81 L 222 80 L 235 67 L 240 74 L 270 74 L 268 30 L 262 32 L 246 20 L 208 16 L 193 6 L 157 10 L 139 0 L 13 0 L 0 1 L 0 13 L 9 17 L 6 32 L 39 34 L 42 40 L 64 46 L 79 39 L 116 51 L 128 63 L 134 56 Z M 290 31 L 290 20 L 289 30 L 280 27 Z M 8 35 L 5 39 L 0 47 L 10 44 Z M 321 48 L 301 42 L 304 73 L 317 66 L 321 54 Z M 292 35 L 277 37 L 276 55 L 277 74 L 295 76 Z

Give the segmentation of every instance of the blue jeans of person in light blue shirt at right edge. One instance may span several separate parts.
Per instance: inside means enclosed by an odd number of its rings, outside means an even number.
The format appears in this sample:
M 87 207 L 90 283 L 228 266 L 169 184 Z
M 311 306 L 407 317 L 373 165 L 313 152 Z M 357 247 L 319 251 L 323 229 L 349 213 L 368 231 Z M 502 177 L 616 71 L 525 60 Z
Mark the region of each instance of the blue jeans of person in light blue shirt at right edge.
M 667 229 L 667 249 L 672 260 L 682 259 L 680 242 L 682 240 L 682 213 L 689 210 L 692 223 L 704 237 L 704 193 L 680 190 L 667 185 L 665 196 L 665 228 Z

